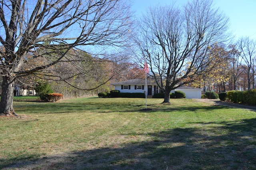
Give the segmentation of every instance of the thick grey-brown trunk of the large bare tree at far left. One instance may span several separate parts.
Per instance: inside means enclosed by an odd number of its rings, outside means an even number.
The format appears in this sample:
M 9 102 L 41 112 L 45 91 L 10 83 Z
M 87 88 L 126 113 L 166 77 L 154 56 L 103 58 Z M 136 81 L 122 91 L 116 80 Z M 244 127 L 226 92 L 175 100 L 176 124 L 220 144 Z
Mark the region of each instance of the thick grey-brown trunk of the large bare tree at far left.
M 14 80 L 3 77 L 2 95 L 0 100 L 0 115 L 16 115 L 13 109 Z

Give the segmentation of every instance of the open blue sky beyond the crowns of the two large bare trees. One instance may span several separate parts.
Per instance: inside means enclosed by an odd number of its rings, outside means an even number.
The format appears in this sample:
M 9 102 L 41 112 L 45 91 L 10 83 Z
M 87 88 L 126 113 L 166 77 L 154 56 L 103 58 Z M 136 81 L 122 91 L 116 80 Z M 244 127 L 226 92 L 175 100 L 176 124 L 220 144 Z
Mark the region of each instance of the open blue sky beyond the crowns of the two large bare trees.
M 172 4 L 174 0 L 132 0 L 132 10 L 139 16 L 148 6 Z M 182 5 L 189 0 L 176 0 Z M 256 39 L 256 0 L 213 0 L 214 6 L 220 8 L 230 18 L 230 31 L 236 36 Z

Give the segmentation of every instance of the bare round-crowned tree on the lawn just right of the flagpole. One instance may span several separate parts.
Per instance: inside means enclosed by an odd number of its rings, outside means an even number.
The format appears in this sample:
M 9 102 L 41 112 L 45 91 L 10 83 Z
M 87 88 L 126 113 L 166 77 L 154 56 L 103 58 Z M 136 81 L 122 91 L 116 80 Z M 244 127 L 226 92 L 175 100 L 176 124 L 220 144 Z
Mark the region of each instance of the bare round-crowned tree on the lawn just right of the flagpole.
M 183 8 L 149 8 L 140 19 L 135 41 L 165 93 L 164 103 L 170 102 L 171 90 L 209 69 L 214 60 L 208 57 L 208 51 L 214 43 L 226 39 L 228 21 L 211 0 L 192 0 Z

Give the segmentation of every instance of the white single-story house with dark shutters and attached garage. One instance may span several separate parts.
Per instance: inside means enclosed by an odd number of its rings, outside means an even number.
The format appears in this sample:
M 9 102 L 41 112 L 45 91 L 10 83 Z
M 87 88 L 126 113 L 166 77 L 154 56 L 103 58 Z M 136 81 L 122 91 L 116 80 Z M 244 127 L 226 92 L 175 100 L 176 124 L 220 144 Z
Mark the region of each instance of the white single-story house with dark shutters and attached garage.
M 155 93 L 160 93 L 160 88 L 157 86 L 156 82 L 152 79 L 147 79 L 147 87 L 145 79 L 132 79 L 122 82 L 116 82 L 112 85 L 115 86 L 115 90 L 119 90 L 120 93 L 146 93 L 147 96 L 153 96 Z M 147 90 L 146 90 L 147 89 Z M 194 88 L 189 86 L 180 86 L 171 92 L 182 91 L 185 93 L 186 98 L 201 98 L 201 88 Z

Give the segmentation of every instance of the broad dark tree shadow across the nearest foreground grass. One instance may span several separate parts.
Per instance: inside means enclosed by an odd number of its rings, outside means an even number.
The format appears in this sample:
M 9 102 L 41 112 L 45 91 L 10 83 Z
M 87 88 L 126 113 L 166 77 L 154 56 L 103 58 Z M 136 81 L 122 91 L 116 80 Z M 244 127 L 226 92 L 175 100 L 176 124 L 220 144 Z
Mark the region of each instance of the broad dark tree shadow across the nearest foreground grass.
M 256 119 L 193 122 L 192 128 L 120 134 L 129 143 L 53 156 L 1 160 L 2 169 L 256 169 Z M 136 141 L 138 137 L 147 140 Z M 64 147 L 64 146 L 63 146 Z

